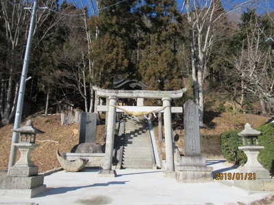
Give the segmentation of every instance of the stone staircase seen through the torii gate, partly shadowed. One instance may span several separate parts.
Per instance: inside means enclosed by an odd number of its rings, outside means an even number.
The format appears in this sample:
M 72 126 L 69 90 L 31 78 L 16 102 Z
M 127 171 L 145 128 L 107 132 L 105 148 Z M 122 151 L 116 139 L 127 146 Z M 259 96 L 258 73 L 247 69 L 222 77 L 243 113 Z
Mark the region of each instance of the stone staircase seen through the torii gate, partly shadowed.
M 123 168 L 152 169 L 151 139 L 147 120 L 128 117 L 125 122 L 125 139 L 123 147 Z

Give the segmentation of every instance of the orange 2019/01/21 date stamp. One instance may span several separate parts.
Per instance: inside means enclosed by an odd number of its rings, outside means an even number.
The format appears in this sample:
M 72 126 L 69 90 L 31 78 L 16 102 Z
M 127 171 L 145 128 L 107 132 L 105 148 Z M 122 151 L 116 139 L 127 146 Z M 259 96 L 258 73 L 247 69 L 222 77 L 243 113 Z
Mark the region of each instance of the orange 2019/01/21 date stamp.
M 256 173 L 215 173 L 215 180 L 256 180 Z

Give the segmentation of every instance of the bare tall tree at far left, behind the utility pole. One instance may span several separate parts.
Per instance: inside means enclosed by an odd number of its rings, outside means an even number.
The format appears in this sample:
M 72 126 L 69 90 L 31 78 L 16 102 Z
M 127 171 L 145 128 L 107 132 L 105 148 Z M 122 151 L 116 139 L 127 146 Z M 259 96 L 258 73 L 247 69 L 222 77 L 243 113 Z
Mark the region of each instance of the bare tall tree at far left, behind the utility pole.
M 0 115 L 2 124 L 10 123 L 15 114 L 20 73 L 23 66 L 22 59 L 25 51 L 24 42 L 27 38 L 29 17 L 31 14 L 31 12 L 24 8 L 32 7 L 30 2 L 0 0 L 0 15 L 5 23 L 5 49 L 7 51 L 5 66 L 1 66 Z M 54 0 L 40 1 L 40 3 L 45 3 L 49 9 L 55 8 Z M 45 23 L 49 15 L 48 10 L 39 10 L 36 16 L 34 33 Z M 49 27 L 45 29 L 40 40 L 48 35 L 49 30 L 56 25 L 58 20 L 60 18 L 52 18 Z M 33 50 L 36 46 L 37 44 L 34 44 Z

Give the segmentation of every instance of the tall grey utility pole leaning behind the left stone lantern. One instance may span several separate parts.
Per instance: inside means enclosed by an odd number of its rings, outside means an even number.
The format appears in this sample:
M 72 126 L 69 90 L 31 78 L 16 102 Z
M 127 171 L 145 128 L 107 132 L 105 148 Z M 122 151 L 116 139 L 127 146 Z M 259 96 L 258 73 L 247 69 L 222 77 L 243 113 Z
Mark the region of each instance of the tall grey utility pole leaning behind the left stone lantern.
M 14 129 L 19 128 L 21 125 L 21 118 L 22 118 L 22 110 L 23 110 L 23 102 L 24 102 L 24 96 L 25 96 L 25 83 L 26 83 L 26 77 L 27 77 L 27 68 L 29 66 L 29 55 L 30 50 L 32 48 L 32 37 L 34 35 L 34 27 L 35 27 L 35 21 L 36 21 L 36 13 L 38 10 L 37 7 L 37 1 L 34 1 L 34 7 L 33 8 L 26 8 L 26 9 L 32 9 L 32 20 L 29 26 L 29 36 L 27 38 L 27 47 L 25 51 L 25 58 L 23 63 L 23 69 L 21 74 L 21 82 L 19 87 L 19 94 L 18 94 L 18 100 L 16 105 L 16 114 L 14 119 Z M 12 146 L 10 148 L 10 161 L 9 161 L 9 169 L 12 167 L 16 161 L 16 147 L 14 146 L 14 143 L 18 142 L 18 133 L 13 132 L 12 133 Z

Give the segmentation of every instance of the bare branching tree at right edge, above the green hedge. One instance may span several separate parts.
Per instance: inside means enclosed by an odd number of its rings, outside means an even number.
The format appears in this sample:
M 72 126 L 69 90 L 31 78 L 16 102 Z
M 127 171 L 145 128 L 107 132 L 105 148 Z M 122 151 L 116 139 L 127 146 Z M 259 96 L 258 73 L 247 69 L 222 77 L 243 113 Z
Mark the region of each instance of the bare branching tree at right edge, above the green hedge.
M 242 43 L 242 52 L 234 57 L 234 65 L 247 83 L 245 90 L 274 108 L 274 65 L 271 49 L 266 49 L 264 28 L 258 22 L 250 25 L 247 39 Z

